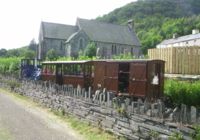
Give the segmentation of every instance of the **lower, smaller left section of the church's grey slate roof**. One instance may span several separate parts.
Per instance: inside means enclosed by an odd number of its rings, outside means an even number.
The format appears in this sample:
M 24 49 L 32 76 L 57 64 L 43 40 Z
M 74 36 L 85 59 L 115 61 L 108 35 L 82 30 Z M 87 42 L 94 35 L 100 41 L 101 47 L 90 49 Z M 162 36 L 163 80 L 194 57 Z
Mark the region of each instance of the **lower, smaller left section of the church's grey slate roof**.
M 74 32 L 77 32 L 77 26 L 42 22 L 43 36 L 46 38 L 67 39 Z

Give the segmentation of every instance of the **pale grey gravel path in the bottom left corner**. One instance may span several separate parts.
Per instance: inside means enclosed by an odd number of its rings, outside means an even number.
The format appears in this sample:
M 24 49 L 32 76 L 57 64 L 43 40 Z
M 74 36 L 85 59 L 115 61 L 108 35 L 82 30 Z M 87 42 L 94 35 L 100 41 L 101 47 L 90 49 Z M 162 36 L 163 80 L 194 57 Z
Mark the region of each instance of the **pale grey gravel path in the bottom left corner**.
M 12 140 L 82 139 L 54 115 L 0 93 L 0 130 L 2 129 L 9 132 Z

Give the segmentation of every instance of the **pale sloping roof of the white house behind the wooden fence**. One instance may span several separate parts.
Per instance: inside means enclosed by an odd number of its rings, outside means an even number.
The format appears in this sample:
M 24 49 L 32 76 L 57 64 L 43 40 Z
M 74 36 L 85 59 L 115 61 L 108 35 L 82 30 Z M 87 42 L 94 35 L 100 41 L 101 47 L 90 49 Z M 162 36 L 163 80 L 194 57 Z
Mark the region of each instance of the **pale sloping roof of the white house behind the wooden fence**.
M 195 39 L 199 39 L 199 38 L 200 38 L 200 33 L 190 34 L 190 35 L 186 35 L 186 36 L 181 36 L 181 37 L 177 37 L 177 38 L 164 40 L 159 45 L 167 45 L 167 44 L 174 44 L 174 43 L 178 43 L 178 42 L 186 42 L 189 40 L 195 40 Z

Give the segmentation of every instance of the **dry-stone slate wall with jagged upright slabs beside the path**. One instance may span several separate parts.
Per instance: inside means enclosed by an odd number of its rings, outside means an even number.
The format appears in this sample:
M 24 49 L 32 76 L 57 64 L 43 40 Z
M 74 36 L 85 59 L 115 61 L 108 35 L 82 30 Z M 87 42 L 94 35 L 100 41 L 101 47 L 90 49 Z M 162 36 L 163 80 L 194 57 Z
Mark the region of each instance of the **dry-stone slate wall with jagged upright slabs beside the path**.
M 0 86 L 7 85 L 0 82 Z M 105 89 L 92 94 L 91 90 L 86 92 L 71 85 L 22 81 L 21 86 L 14 90 L 46 107 L 75 115 L 82 121 L 127 139 L 163 140 L 179 133 L 189 140 L 194 129 L 186 126 L 200 123 L 199 110 L 195 107 L 182 105 L 167 109 L 160 100 L 155 103 L 140 99 L 122 101 Z

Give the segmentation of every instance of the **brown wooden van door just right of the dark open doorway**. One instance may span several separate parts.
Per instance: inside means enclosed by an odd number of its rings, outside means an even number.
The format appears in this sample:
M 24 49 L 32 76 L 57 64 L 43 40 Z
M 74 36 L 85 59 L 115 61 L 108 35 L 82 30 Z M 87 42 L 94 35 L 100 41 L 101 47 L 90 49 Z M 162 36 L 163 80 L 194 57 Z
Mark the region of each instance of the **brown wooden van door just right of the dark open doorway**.
M 146 63 L 131 63 L 129 93 L 133 96 L 144 97 L 146 93 L 146 82 Z

